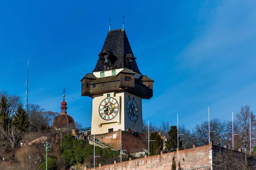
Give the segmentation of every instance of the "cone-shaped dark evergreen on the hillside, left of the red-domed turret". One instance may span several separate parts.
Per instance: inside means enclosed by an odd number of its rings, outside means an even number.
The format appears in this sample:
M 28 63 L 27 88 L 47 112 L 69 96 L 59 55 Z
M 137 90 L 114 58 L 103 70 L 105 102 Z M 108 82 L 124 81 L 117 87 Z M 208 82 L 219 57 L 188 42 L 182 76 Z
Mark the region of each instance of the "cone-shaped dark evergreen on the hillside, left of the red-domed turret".
M 15 129 L 20 130 L 21 132 L 27 132 L 29 129 L 29 117 L 21 105 L 19 105 L 17 112 L 14 115 L 12 125 L 14 125 Z

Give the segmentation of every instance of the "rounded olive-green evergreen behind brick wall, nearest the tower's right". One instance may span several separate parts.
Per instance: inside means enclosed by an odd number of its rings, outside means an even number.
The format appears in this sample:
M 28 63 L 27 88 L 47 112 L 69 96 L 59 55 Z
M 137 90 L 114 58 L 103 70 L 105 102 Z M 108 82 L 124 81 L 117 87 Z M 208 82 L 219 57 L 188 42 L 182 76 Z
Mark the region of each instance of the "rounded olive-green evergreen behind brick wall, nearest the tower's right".
M 149 143 L 150 153 L 156 155 L 163 148 L 163 140 L 157 132 L 151 133 L 149 140 L 154 140 Z

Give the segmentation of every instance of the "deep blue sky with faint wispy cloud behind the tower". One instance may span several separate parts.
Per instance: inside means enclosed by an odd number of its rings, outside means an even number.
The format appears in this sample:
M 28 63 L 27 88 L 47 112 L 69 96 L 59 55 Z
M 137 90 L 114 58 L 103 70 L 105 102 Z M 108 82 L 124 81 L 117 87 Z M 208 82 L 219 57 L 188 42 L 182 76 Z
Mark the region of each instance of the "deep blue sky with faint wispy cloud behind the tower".
M 125 31 L 140 71 L 154 79 L 143 119 L 193 127 L 211 117 L 231 120 L 241 105 L 256 109 L 256 1 L 141 0 L 0 2 L 0 89 L 67 112 L 90 126 L 92 99 L 80 79 L 96 65 L 108 33 Z

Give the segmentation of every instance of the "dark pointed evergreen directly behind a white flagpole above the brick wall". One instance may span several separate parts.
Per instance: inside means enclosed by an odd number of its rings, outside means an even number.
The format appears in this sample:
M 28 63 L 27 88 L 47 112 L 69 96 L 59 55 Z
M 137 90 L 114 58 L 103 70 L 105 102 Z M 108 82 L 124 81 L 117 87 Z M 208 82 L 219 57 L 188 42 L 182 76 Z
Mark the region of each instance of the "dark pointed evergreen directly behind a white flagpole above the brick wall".
M 171 126 L 171 129 L 168 132 L 169 134 L 169 139 L 166 141 L 166 147 L 168 150 L 176 149 L 177 146 L 177 127 L 176 126 Z M 182 147 L 182 141 L 180 140 L 179 136 L 179 148 Z

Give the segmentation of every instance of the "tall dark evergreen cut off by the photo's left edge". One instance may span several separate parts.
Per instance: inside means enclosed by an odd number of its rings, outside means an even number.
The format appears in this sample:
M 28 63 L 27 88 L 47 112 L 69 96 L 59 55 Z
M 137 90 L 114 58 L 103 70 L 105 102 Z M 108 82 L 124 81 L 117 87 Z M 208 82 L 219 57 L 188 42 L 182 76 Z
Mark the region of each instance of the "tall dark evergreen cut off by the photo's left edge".
M 9 110 L 10 104 L 6 96 L 2 96 L 0 100 L 0 126 L 3 130 L 8 130 L 8 125 L 11 123 L 11 112 Z

